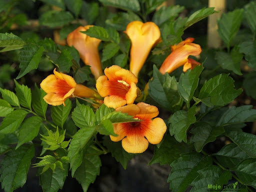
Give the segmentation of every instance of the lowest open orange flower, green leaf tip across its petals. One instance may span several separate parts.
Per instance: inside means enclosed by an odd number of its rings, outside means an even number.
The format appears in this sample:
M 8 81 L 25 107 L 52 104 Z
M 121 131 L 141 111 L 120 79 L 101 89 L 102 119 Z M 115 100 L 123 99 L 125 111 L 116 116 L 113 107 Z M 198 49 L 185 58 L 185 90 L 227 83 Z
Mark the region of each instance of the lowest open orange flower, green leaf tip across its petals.
M 128 113 L 133 118 L 141 120 L 113 124 L 114 133 L 118 136 L 110 135 L 110 139 L 112 141 L 122 140 L 122 147 L 127 152 L 144 152 L 148 147 L 148 142 L 157 144 L 162 140 L 166 131 L 166 124 L 161 118 L 156 117 L 159 113 L 156 106 L 139 102 L 115 110 Z

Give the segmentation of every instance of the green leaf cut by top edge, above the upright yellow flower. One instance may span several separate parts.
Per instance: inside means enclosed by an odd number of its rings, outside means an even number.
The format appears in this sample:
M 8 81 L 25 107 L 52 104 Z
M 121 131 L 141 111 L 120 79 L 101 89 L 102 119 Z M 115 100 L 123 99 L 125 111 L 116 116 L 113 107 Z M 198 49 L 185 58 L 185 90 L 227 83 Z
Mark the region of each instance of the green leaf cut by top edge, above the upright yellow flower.
M 124 10 L 140 10 L 138 0 L 99 0 L 99 2 L 103 3 L 105 6 L 113 6 Z

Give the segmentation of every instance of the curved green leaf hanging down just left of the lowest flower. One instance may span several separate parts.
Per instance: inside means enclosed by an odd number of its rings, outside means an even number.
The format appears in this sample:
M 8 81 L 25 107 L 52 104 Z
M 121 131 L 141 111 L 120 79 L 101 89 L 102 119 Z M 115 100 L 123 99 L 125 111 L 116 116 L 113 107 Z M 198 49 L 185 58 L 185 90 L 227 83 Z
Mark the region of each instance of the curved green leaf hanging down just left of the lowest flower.
M 67 156 L 70 161 L 71 174 L 74 176 L 76 169 L 80 166 L 83 159 L 83 150 L 90 138 L 93 136 L 95 127 L 84 127 L 79 129 L 71 139 L 68 147 Z

